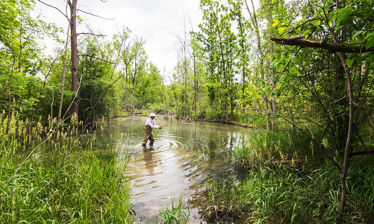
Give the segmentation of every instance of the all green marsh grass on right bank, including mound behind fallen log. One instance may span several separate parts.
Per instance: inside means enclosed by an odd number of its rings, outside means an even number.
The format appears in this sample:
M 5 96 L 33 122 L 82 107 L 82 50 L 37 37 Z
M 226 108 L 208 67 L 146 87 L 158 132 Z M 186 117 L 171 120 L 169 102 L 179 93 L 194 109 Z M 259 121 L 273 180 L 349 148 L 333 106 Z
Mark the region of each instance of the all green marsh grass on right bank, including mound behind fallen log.
M 249 168 L 248 174 L 240 181 L 206 181 L 206 217 L 254 223 L 341 221 L 338 171 L 301 133 L 259 130 L 233 154 L 238 164 Z M 350 163 L 345 220 L 373 223 L 373 155 L 352 158 Z

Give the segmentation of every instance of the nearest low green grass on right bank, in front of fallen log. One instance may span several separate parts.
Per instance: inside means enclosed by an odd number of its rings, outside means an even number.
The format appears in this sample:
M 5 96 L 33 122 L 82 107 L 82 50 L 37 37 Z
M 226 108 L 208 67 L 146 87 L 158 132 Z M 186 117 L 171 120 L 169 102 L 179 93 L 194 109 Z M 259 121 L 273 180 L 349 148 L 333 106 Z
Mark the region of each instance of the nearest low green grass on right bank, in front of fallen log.
M 373 223 L 373 158 L 354 161 L 348 173 L 347 223 Z M 279 165 L 250 171 L 242 181 L 211 180 L 206 184 L 205 215 L 256 223 L 337 223 L 340 182 L 334 165 L 302 174 Z

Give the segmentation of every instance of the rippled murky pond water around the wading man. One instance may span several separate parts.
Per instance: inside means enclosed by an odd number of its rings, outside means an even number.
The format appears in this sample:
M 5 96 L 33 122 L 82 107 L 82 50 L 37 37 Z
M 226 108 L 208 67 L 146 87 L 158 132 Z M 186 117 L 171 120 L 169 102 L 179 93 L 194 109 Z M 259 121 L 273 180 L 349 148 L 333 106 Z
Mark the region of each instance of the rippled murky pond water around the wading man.
M 165 128 L 154 133 L 154 145 L 141 146 L 147 117 L 111 120 L 110 133 L 120 149 L 120 159 L 130 157 L 127 167 L 134 187 L 132 199 L 138 222 L 152 220 L 162 206 L 178 201 L 190 206 L 189 223 L 206 223 L 200 216 L 205 182 L 209 178 L 242 178 L 245 174 L 233 163 L 232 150 L 248 139 L 250 130 L 216 123 L 186 123 L 162 117 L 156 124 Z

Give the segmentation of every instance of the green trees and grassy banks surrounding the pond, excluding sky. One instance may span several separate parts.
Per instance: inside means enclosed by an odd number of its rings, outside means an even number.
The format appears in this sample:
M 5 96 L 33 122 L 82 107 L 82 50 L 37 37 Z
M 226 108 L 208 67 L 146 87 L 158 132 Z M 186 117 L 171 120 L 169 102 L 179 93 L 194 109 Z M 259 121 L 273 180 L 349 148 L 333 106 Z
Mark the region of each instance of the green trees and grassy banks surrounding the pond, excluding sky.
M 373 0 L 200 0 L 171 71 L 131 27 L 97 32 L 77 2 L 0 0 L 1 223 L 190 223 L 195 207 L 204 223 L 374 222 Z M 181 195 L 137 219 L 132 155 L 105 131 L 151 112 L 251 130 L 224 152 L 245 175 L 205 173 L 199 206 Z

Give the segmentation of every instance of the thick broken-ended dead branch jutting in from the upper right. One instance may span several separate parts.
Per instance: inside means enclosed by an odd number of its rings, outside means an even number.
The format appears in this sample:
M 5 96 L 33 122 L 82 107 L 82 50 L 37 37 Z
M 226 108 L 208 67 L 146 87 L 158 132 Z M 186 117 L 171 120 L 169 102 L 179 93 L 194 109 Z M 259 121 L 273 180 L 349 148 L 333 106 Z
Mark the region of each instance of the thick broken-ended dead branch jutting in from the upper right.
M 288 38 L 270 38 L 275 43 L 290 46 L 300 47 L 317 47 L 327 50 L 328 52 L 343 52 L 343 53 L 363 53 L 369 52 L 365 46 L 351 46 L 344 43 L 331 43 L 325 40 L 309 40 L 304 39 L 304 35 L 292 36 Z

